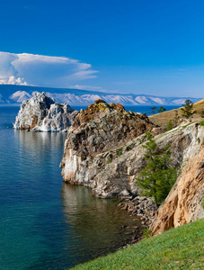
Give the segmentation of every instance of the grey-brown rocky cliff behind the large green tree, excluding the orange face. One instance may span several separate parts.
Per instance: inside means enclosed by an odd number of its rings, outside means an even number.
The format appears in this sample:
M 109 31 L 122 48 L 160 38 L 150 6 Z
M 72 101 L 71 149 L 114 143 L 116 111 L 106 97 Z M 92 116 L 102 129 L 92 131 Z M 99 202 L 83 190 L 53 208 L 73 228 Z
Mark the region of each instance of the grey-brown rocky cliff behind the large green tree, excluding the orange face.
M 142 143 L 150 129 L 159 132 L 146 115 L 126 112 L 120 104 L 90 105 L 69 130 L 60 165 L 64 180 L 90 186 L 103 198 L 139 194 L 136 177 L 146 165 Z M 161 148 L 171 144 L 173 164 L 179 167 L 199 152 L 203 137 L 204 128 L 190 123 L 155 139 Z

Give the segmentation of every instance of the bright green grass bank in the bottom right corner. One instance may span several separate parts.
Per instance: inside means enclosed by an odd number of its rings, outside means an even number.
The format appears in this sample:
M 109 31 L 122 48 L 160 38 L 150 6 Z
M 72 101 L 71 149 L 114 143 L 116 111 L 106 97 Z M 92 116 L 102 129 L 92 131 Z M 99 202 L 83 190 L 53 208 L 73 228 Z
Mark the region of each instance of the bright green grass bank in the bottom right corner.
M 80 270 L 203 269 L 204 219 L 170 229 L 136 245 L 75 266 Z

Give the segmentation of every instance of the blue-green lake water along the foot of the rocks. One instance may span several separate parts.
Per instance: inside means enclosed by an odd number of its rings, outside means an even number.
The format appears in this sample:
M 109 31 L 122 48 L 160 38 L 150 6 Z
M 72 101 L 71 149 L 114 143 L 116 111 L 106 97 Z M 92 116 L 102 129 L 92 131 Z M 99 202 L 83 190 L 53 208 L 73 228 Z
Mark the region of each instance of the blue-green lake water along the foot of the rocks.
M 115 251 L 139 221 L 114 200 L 64 184 L 66 133 L 13 130 L 18 107 L 0 107 L 0 269 L 65 269 Z

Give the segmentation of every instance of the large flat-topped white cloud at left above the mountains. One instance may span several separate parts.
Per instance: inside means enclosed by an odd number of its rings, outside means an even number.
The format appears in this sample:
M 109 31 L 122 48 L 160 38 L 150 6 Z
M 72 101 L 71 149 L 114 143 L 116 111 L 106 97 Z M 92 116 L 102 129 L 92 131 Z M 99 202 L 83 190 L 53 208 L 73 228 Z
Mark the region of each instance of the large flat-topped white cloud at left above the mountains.
M 0 84 L 68 87 L 95 77 L 90 64 L 64 57 L 0 52 Z

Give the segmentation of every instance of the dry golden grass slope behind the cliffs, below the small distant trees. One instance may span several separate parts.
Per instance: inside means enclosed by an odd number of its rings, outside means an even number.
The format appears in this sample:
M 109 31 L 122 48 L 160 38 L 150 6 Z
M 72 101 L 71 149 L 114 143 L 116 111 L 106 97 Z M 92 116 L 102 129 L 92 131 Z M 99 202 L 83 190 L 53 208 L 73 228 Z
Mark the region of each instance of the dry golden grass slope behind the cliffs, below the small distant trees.
M 193 114 L 193 121 L 200 121 L 200 113 L 202 110 L 204 110 L 204 99 L 200 100 L 198 103 L 194 103 L 193 105 L 194 110 L 197 111 L 197 113 Z M 182 117 L 182 111 L 181 108 L 177 109 L 179 115 Z M 149 116 L 149 119 L 153 121 L 157 125 L 164 125 L 166 126 L 169 120 L 173 120 L 175 116 L 175 110 L 169 111 L 169 112 L 162 112 L 157 113 L 155 115 Z

